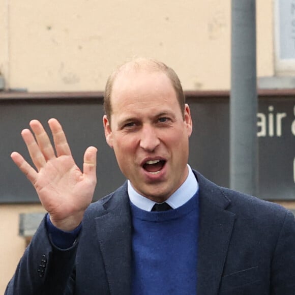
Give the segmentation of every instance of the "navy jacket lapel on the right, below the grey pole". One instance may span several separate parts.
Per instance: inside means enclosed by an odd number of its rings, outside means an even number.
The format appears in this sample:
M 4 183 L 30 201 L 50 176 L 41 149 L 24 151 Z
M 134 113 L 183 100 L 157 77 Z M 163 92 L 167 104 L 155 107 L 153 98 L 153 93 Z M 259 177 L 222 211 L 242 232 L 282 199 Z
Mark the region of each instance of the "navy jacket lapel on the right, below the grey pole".
M 194 171 L 200 186 L 197 294 L 218 294 L 235 215 L 225 209 L 229 199 Z

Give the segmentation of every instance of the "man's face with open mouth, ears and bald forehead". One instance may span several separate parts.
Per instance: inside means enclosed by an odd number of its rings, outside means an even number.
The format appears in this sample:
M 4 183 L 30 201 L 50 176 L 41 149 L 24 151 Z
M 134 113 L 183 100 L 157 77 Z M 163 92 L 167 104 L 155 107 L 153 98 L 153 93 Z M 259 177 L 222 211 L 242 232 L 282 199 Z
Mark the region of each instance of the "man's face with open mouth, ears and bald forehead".
M 111 106 L 104 131 L 121 171 L 141 195 L 166 200 L 188 175 L 189 106 L 181 111 L 165 73 L 147 70 L 120 73 Z

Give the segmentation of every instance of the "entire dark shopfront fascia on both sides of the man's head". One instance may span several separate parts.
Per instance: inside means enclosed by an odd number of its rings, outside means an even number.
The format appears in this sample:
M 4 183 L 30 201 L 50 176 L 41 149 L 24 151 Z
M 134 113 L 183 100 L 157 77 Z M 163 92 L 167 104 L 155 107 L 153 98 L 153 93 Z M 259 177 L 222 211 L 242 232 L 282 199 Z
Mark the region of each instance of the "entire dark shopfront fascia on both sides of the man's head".
M 57 94 L 54 97 L 55 99 L 50 99 L 47 94 L 47 98 L 41 99 L 37 96 L 30 99 L 29 95 L 22 99 L 0 98 L 0 202 L 38 201 L 34 188 L 10 159 L 13 151 L 19 151 L 29 159 L 20 132 L 28 127 L 28 122 L 32 119 L 40 119 L 46 128 L 50 117 L 60 120 L 80 167 L 86 147 L 98 147 L 98 185 L 95 199 L 113 191 L 124 182 L 113 151 L 105 142 L 102 97 L 91 93 L 88 97 L 83 94 L 73 95 L 72 98 L 69 94 L 66 99 L 57 99 Z M 187 93 L 187 102 L 193 117 L 189 163 L 212 181 L 226 187 L 229 185 L 228 97 L 228 92 Z M 258 138 L 257 196 L 263 199 L 295 200 L 294 106 L 294 91 L 260 93 L 259 113 L 265 119 L 265 136 Z M 261 127 L 257 131 L 261 135 Z

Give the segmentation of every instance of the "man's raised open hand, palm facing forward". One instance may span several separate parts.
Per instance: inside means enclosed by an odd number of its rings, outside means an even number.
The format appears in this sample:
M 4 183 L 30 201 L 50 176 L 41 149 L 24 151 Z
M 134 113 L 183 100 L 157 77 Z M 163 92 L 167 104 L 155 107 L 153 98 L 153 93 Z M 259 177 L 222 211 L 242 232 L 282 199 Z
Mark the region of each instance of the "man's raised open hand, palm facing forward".
M 61 124 L 56 119 L 50 119 L 48 124 L 55 152 L 39 121 L 30 122 L 35 137 L 29 129 L 21 132 L 37 171 L 19 153 L 13 152 L 11 158 L 35 187 L 51 222 L 62 230 L 72 230 L 93 198 L 97 149 L 86 149 L 82 172 L 74 162 Z

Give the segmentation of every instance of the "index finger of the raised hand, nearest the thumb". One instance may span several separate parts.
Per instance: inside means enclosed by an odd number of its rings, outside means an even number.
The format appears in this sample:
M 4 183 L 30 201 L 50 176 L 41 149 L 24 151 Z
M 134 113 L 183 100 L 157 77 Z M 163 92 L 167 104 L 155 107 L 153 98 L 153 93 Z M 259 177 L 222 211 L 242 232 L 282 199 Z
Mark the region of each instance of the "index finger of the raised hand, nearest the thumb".
M 58 122 L 56 119 L 50 119 L 48 124 L 52 132 L 57 157 L 63 155 L 72 155 L 70 146 L 60 122 Z

